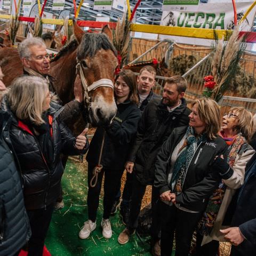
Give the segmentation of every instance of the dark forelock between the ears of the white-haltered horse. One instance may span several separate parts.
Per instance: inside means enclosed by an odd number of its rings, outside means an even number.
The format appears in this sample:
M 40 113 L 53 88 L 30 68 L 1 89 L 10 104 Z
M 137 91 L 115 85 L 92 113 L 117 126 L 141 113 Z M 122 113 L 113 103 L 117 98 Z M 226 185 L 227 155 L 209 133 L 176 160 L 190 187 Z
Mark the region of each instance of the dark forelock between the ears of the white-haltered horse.
M 93 57 L 100 49 L 111 50 L 117 55 L 114 45 L 105 34 L 85 33 L 78 46 L 77 58 L 81 60 L 87 56 Z

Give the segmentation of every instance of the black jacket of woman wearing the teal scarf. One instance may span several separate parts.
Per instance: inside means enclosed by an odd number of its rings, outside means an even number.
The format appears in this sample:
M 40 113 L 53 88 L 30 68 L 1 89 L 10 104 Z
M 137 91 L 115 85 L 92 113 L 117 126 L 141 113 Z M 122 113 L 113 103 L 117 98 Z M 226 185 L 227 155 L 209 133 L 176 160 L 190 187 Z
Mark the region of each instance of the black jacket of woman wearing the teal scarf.
M 174 148 L 186 134 L 187 127 L 174 129 L 157 156 L 154 185 L 159 189 L 160 194 L 168 190 L 172 191 L 171 185 L 167 182 L 171 167 L 170 159 Z M 212 165 L 215 156 L 221 155 L 227 159 L 228 147 L 219 135 L 214 140 L 207 140 L 198 145 L 191 158 L 182 193 L 176 196 L 177 204 L 191 211 L 204 211 L 209 197 L 221 181 L 219 170 L 215 170 Z M 230 169 L 230 172 L 233 170 Z

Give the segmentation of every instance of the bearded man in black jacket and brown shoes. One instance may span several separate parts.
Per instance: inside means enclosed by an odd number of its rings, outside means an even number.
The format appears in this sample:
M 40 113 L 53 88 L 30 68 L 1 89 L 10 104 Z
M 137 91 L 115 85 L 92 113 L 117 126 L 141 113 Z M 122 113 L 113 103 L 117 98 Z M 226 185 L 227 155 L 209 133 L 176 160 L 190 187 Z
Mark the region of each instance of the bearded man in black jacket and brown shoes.
M 186 100 L 183 99 L 186 88 L 187 81 L 185 78 L 181 76 L 167 78 L 162 100 L 151 100 L 143 111 L 138 125 L 137 137 L 125 166 L 128 173 L 134 172 L 134 179 L 129 223 L 118 237 L 120 244 L 127 243 L 138 226 L 141 201 L 146 186 L 154 183 L 156 157 L 163 142 L 175 127 L 188 125 L 190 110 L 187 108 Z M 160 218 L 156 204 L 158 198 L 159 192 L 155 187 L 152 187 L 153 224 L 151 227 L 151 246 L 153 254 L 158 254 L 155 247 L 159 249 Z

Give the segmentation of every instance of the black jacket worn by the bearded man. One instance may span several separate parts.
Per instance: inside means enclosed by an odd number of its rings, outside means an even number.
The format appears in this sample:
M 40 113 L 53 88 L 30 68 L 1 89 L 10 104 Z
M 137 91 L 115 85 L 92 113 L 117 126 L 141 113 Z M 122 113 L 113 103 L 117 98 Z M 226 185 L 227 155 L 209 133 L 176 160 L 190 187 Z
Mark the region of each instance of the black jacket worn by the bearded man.
M 135 177 L 143 185 L 153 185 L 156 156 L 175 127 L 188 125 L 190 110 L 185 99 L 171 113 L 162 100 L 151 100 L 144 110 L 127 161 L 134 162 Z

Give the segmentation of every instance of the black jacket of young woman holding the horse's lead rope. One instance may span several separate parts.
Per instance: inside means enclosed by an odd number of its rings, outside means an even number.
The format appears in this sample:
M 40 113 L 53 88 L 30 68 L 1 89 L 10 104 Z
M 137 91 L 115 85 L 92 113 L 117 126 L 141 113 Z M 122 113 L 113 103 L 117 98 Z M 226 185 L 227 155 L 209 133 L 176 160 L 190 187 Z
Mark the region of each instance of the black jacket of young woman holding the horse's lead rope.
M 87 162 L 98 165 L 103 132 L 106 130 L 101 164 L 107 169 L 124 170 L 140 117 L 138 106 L 130 100 L 119 103 L 113 122 L 105 128 L 97 128 L 86 156 Z

